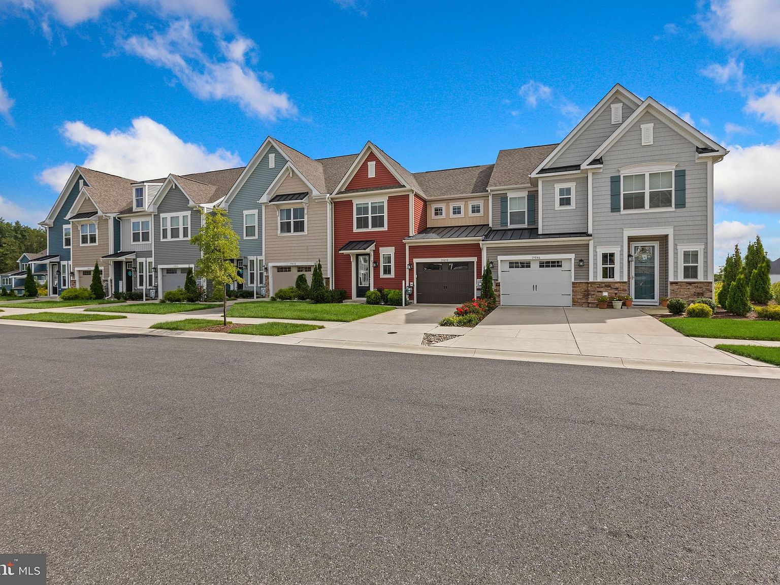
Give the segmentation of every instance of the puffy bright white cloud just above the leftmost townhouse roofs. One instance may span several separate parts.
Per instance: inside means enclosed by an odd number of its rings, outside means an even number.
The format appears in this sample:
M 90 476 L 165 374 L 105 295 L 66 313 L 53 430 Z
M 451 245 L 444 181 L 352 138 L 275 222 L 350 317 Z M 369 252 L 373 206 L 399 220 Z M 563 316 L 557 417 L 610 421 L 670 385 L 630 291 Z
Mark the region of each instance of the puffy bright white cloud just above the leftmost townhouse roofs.
M 137 118 L 126 131 L 105 133 L 84 122 L 66 122 L 62 134 L 88 152 L 83 166 L 129 179 L 153 179 L 168 173 L 213 171 L 242 165 L 238 154 L 219 148 L 209 152 L 200 144 L 184 142 L 168 128 L 150 118 Z M 62 190 L 73 164 L 47 168 L 38 180 L 55 191 Z

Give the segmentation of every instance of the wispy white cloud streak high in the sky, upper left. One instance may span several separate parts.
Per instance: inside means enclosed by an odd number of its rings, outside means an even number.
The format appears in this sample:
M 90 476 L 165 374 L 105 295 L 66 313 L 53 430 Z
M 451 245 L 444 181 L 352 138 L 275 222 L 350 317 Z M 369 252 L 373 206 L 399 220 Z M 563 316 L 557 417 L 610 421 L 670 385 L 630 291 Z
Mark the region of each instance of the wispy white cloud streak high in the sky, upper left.
M 221 41 L 226 60 L 218 60 L 204 53 L 190 23 L 179 20 L 163 34 L 130 37 L 123 44 L 129 53 L 171 70 L 184 87 L 202 100 L 233 101 L 244 111 L 267 120 L 297 113 L 287 94 L 268 87 L 246 66 L 246 52 L 254 49 L 250 39 Z

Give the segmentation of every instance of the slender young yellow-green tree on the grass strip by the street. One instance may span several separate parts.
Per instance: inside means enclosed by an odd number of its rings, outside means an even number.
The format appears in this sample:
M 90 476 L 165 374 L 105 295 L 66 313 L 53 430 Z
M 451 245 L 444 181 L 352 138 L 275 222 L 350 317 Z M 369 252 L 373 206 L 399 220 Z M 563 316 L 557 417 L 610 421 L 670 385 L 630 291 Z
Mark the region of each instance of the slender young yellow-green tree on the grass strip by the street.
M 215 207 L 211 213 L 201 212 L 200 231 L 190 238 L 200 248 L 200 260 L 195 263 L 195 275 L 214 282 L 222 289 L 222 324 L 228 324 L 228 294 L 225 287 L 231 282 L 243 282 L 233 260 L 239 257 L 239 235 L 233 230 L 224 209 Z

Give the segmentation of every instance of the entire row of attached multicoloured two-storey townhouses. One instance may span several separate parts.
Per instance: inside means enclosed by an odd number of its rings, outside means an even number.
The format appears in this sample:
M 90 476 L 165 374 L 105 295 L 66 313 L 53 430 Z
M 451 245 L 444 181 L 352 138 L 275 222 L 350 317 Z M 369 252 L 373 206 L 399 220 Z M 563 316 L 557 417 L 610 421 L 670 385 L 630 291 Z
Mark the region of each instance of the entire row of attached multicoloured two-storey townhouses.
M 240 237 L 244 289 L 273 294 L 321 261 L 359 300 L 410 285 L 417 303 L 479 293 L 490 264 L 501 303 L 587 306 L 597 296 L 711 296 L 713 165 L 727 151 L 651 97 L 616 85 L 559 144 L 495 162 L 409 172 L 371 142 L 312 159 L 268 137 L 244 168 L 133 180 L 76 167 L 34 261 L 49 292 L 183 286 L 201 211 Z M 21 265 L 20 265 L 21 270 Z M 258 295 L 259 296 L 259 295 Z

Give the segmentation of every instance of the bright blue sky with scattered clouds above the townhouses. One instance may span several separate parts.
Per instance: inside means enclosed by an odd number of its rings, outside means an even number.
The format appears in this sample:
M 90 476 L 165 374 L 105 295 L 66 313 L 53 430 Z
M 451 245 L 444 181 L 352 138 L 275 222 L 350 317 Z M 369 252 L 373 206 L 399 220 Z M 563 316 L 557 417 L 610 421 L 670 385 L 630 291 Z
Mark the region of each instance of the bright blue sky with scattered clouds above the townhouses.
M 41 220 L 74 164 L 132 179 L 373 140 L 411 171 L 558 142 L 614 83 L 732 150 L 716 260 L 780 256 L 780 0 L 0 0 L 0 215 Z M 645 5 L 646 6 L 646 5 Z

